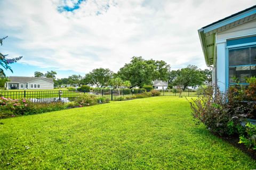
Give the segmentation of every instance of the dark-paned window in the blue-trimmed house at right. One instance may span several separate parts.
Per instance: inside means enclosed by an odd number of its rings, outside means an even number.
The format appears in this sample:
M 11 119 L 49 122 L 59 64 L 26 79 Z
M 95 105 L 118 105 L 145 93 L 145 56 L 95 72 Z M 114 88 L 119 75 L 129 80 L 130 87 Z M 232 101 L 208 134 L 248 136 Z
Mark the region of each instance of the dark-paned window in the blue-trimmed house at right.
M 246 84 L 246 77 L 256 76 L 256 46 L 234 48 L 229 51 L 229 84 Z

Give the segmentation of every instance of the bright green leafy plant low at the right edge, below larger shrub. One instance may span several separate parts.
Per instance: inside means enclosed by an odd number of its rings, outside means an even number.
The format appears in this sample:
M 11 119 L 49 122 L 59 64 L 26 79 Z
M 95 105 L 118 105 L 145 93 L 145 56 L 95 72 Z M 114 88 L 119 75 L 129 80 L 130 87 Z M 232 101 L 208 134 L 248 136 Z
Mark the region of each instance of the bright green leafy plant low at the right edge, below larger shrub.
M 246 136 L 239 136 L 239 143 L 244 143 L 248 149 L 256 150 L 256 125 L 248 122 L 245 127 Z

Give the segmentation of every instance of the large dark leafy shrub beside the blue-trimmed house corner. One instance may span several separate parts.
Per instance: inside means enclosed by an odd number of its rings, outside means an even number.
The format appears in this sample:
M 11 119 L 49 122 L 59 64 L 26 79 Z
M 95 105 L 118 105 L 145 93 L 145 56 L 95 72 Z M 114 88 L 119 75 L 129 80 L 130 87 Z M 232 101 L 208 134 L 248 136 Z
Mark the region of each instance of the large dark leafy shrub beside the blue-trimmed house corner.
M 240 133 L 241 122 L 251 116 L 254 107 L 253 103 L 235 100 L 230 90 L 225 94 L 217 88 L 213 98 L 212 86 L 205 88 L 204 96 L 192 100 L 190 106 L 196 122 L 221 136 Z

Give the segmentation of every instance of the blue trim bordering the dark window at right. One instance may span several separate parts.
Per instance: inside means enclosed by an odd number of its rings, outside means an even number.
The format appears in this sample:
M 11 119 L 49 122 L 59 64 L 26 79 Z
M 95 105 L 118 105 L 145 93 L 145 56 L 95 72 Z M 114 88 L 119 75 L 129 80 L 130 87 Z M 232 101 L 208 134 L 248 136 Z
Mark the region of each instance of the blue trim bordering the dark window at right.
M 256 44 L 256 42 L 255 42 Z M 229 83 L 229 68 L 230 67 L 241 67 L 241 66 L 256 66 L 256 64 L 247 64 L 247 65 L 237 65 L 237 66 L 229 66 L 229 50 L 239 49 L 239 48 L 247 48 L 247 47 L 256 47 L 256 45 L 246 45 L 246 44 L 238 44 L 237 47 L 227 46 L 226 43 L 226 90 L 228 90 L 229 85 L 236 85 L 237 83 Z M 248 83 L 239 83 L 239 85 L 249 85 Z

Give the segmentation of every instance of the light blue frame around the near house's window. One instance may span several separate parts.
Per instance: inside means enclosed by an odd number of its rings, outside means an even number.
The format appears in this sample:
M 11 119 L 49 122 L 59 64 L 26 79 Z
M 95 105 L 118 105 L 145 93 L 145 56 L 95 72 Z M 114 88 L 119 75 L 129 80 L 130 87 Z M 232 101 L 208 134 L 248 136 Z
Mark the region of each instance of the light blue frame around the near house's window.
M 255 42 L 256 43 L 256 42 Z M 243 66 L 255 66 L 256 64 L 245 64 L 245 65 L 234 65 L 234 66 L 229 66 L 229 50 L 236 50 L 240 48 L 250 48 L 250 47 L 256 47 L 256 44 L 253 43 L 252 45 L 246 45 L 246 44 L 239 44 L 236 46 L 227 46 L 226 47 L 226 87 L 228 89 L 229 86 L 237 85 L 237 83 L 229 83 L 229 68 L 234 68 L 234 67 L 243 67 Z M 239 83 L 239 85 L 249 85 L 249 83 Z

